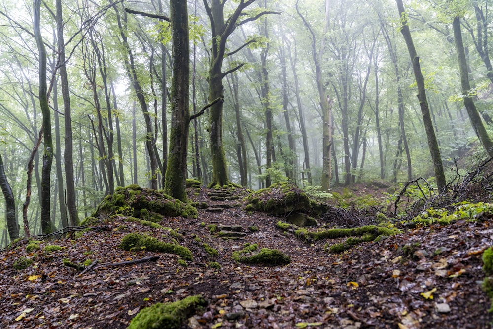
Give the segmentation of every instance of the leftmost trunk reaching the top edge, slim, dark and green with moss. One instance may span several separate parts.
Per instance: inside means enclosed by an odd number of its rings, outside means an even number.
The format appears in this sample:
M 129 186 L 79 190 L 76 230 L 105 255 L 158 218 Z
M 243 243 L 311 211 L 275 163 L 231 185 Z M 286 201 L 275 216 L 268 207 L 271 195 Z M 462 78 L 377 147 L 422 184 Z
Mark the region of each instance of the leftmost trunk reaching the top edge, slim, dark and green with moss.
M 40 0 L 34 0 L 34 36 L 39 51 L 39 107 L 43 115 L 43 167 L 41 171 L 41 230 L 43 234 L 49 234 L 51 229 L 50 218 L 50 185 L 51 164 L 53 162 L 53 140 L 51 136 L 51 110 L 48 104 L 48 87 L 46 82 L 46 49 L 41 36 Z

